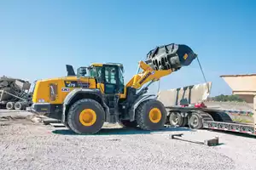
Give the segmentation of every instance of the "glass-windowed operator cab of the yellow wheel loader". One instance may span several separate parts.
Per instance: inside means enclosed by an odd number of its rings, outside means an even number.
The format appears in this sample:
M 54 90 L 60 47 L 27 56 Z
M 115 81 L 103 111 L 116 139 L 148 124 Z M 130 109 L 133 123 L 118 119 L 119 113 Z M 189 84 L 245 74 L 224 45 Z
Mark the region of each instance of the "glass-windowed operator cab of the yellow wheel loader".
M 102 84 L 104 94 L 124 94 L 124 68 L 122 64 L 92 64 L 90 77 Z

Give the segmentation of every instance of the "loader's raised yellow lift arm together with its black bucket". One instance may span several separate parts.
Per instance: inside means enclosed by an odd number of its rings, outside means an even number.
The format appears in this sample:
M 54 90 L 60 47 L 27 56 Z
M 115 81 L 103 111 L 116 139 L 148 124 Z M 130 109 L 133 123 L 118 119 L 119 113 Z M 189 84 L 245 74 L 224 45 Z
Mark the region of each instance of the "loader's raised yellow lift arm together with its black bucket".
M 190 65 L 196 57 L 197 54 L 187 45 L 171 43 L 156 47 L 148 52 L 145 62 L 139 61 L 137 74 L 126 83 L 125 89 L 128 87 L 139 89 L 147 82 L 159 81 L 161 77 Z M 143 71 L 139 72 L 140 69 Z M 125 95 L 121 95 L 120 98 L 125 97 L 126 90 Z

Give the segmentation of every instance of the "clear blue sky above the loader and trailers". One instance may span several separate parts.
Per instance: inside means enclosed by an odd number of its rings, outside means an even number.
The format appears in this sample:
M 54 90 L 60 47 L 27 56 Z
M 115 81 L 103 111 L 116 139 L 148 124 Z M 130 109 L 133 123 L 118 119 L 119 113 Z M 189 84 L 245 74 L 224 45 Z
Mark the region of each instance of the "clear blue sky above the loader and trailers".
M 199 55 L 212 95 L 230 94 L 220 75 L 256 72 L 256 2 L 1 1 L 0 74 L 31 82 L 66 75 L 92 62 L 121 62 L 125 80 L 149 50 L 189 45 Z M 161 89 L 204 82 L 196 60 L 164 77 Z

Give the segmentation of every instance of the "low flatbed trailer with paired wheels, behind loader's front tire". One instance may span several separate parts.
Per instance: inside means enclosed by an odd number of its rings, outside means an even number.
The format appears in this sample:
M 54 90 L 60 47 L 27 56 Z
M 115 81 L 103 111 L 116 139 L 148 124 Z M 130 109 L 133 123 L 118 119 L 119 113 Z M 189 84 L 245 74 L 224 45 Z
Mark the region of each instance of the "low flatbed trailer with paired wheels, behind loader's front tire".
M 166 107 L 166 111 L 168 112 L 166 124 L 171 126 L 189 126 L 192 129 L 209 128 L 256 135 L 253 124 L 234 122 L 229 114 L 222 110 L 177 106 Z

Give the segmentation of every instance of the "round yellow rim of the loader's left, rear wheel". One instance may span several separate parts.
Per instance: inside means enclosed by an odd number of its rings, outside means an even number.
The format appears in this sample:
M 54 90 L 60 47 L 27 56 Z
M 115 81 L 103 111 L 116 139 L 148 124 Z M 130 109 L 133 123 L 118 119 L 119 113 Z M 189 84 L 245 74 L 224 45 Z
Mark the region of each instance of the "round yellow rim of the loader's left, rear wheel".
M 96 122 L 96 112 L 91 109 L 84 109 L 79 115 L 79 121 L 85 127 L 90 127 Z

